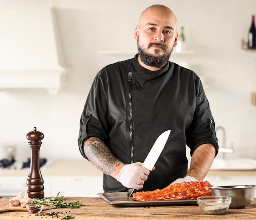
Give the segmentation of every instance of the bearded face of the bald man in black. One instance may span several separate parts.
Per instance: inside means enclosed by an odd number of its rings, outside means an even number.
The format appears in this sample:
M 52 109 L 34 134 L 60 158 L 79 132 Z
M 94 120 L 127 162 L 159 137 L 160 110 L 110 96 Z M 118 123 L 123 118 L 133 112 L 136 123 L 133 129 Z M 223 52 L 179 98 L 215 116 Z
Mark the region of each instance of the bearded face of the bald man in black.
M 150 9 L 135 29 L 140 60 L 147 66 L 163 67 L 177 44 L 175 15 L 166 9 Z

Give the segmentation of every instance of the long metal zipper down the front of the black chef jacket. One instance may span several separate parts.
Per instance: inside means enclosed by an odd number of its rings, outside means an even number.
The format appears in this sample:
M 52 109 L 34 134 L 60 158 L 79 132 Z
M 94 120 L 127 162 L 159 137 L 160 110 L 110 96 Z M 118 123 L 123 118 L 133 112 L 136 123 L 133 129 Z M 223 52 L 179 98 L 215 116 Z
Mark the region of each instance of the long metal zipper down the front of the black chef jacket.
M 129 82 L 129 139 L 130 139 L 130 162 L 133 163 L 133 127 L 132 127 L 132 72 L 128 73 L 128 82 Z

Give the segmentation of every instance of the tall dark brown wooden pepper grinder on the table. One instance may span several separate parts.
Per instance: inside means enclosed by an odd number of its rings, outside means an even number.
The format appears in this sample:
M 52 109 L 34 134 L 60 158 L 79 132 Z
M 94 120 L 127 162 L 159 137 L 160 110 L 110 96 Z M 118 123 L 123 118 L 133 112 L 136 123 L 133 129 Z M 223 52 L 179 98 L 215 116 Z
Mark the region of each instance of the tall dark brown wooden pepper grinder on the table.
M 37 128 L 34 127 L 34 131 L 27 133 L 27 140 L 29 140 L 29 147 L 31 152 L 30 158 L 30 171 L 27 177 L 27 194 L 29 198 L 43 199 L 45 197 L 44 193 L 44 180 L 40 171 L 40 160 L 39 160 L 39 150 L 42 144 L 44 135 L 40 131 L 36 131 Z

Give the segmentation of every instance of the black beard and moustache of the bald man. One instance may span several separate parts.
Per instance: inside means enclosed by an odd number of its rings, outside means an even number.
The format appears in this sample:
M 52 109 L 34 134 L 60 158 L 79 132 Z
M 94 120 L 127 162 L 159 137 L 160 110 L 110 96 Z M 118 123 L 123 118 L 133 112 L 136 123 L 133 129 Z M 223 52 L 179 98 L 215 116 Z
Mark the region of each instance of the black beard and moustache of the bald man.
M 155 43 L 155 45 L 160 46 L 161 44 Z M 148 47 L 151 47 L 151 46 L 152 46 L 152 44 L 150 44 Z M 147 53 L 144 49 L 142 49 L 139 46 L 139 39 L 137 40 L 137 47 L 138 47 L 138 52 L 139 52 L 141 62 L 143 62 L 147 66 L 157 67 L 157 68 L 162 67 L 167 64 L 167 62 L 171 56 L 171 53 L 173 51 L 173 48 L 172 48 L 170 53 L 164 53 L 163 55 L 157 55 L 159 53 L 159 50 L 155 49 L 156 55 L 154 56 L 150 53 Z

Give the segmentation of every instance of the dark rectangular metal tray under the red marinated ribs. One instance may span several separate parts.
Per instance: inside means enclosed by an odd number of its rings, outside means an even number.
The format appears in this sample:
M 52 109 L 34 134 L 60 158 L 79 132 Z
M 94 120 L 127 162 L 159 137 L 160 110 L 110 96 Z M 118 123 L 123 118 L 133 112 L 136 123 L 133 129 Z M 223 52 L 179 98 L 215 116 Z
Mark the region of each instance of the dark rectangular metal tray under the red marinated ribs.
M 118 193 L 97 193 L 112 205 L 119 206 L 158 206 L 158 205 L 192 205 L 197 204 L 197 200 L 162 200 L 162 201 L 134 201 L 127 196 L 127 192 Z

